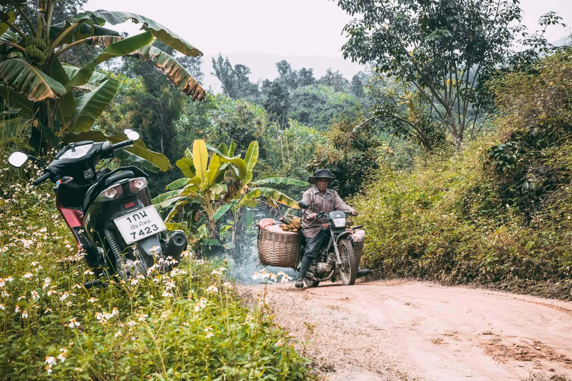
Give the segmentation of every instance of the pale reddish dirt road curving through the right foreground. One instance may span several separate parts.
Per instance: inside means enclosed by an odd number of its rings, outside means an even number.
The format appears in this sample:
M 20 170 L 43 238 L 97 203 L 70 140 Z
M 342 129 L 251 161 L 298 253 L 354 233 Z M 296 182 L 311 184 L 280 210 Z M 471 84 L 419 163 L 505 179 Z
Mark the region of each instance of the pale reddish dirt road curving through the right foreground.
M 572 375 L 570 302 L 403 280 L 267 290 L 277 322 L 300 347 L 304 322 L 315 324 L 305 350 L 329 380 Z

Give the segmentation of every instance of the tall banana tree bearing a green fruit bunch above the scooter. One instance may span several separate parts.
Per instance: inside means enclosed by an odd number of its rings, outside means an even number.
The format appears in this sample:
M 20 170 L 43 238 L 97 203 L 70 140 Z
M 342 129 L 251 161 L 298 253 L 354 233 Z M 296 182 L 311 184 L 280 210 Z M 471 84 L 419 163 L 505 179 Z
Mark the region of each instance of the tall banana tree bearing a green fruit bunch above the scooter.
M 32 121 L 33 131 L 41 136 L 45 148 L 61 139 L 77 141 L 85 137 L 82 134 L 92 132 L 94 122 L 118 90 L 118 81 L 112 75 L 98 73 L 96 67 L 114 57 L 152 61 L 193 101 L 205 97 L 204 89 L 173 57 L 150 45 L 157 38 L 182 54 L 202 55 L 168 28 L 138 14 L 105 10 L 81 13 L 51 25 L 54 2 L 38 1 L 38 22 L 34 25 L 22 9 L 26 1 L 0 0 L 0 97 L 9 109 L 18 110 L 22 119 Z M 17 25 L 16 14 L 30 34 Z M 140 23 L 143 32 L 122 38 L 104 27 L 106 23 L 117 25 L 129 20 Z M 63 52 L 79 45 L 100 46 L 102 51 L 81 68 L 59 61 Z M 77 89 L 85 94 L 74 97 Z M 91 134 L 90 138 L 109 139 L 103 134 Z M 148 169 L 164 171 L 171 167 L 162 154 L 152 153 L 144 145 L 135 145 L 119 155 Z

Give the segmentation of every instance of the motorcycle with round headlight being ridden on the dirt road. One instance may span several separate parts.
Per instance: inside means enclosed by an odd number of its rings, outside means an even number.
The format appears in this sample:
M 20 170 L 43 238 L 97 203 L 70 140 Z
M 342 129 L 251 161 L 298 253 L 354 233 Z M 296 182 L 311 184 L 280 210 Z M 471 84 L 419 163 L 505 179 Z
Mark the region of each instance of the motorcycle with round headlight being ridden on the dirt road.
M 336 276 L 339 275 L 345 286 L 354 284 L 359 263 L 356 263 L 352 240 L 349 236 L 353 230 L 362 228 L 363 225 L 352 226 L 352 231 L 347 231 L 347 216 L 350 212 L 332 211 L 327 214 L 324 211 L 316 210 L 303 201 L 298 202 L 298 206 L 317 212 L 317 217 L 312 222 L 320 219 L 327 220 L 322 225 L 322 230 L 327 231 L 325 239 L 317 258 L 312 261 L 304 276 L 304 283 L 308 287 L 316 287 L 324 280 L 335 281 Z M 302 246 L 300 259 L 304 256 L 304 250 L 305 247 Z

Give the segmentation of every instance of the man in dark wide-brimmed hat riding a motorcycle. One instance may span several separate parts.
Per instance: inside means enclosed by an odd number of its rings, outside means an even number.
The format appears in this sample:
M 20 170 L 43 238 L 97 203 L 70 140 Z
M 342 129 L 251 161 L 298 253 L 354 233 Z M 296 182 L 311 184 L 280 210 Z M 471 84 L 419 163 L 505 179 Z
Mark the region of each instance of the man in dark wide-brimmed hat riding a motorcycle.
M 337 192 L 329 189 L 329 183 L 335 180 L 335 175 L 328 170 L 316 170 L 313 175 L 308 178 L 308 182 L 314 186 L 304 192 L 302 201 L 307 203 L 311 208 L 304 209 L 302 218 L 302 233 L 306 238 L 306 247 L 304 250 L 304 258 L 300 264 L 300 275 L 296 280 L 296 287 L 304 287 L 304 276 L 308 272 L 308 268 L 312 260 L 317 258 L 320 247 L 325 238 L 327 230 L 322 230 L 322 220 L 315 220 L 317 212 L 325 211 L 326 213 L 338 210 L 351 212 L 353 216 L 358 215 L 358 211 L 346 204 Z M 371 270 L 358 270 L 357 277 L 367 275 Z

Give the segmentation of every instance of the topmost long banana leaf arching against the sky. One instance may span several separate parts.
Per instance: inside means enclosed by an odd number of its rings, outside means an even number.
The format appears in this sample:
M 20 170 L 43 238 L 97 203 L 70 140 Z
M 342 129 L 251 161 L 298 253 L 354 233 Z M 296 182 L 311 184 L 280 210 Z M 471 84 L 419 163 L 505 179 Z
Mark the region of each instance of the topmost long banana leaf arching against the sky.
M 88 19 L 100 26 L 104 25 L 105 22 L 109 22 L 111 25 L 117 25 L 129 20 L 134 23 L 142 23 L 142 30 L 151 31 L 155 38 L 160 39 L 162 42 L 166 43 L 173 49 L 180 51 L 182 54 L 192 55 L 193 57 L 202 55 L 200 50 L 190 45 L 190 43 L 173 33 L 173 31 L 142 15 L 128 12 L 110 12 L 100 9 L 95 12 L 88 11 L 78 14 L 74 17 L 73 21 Z

